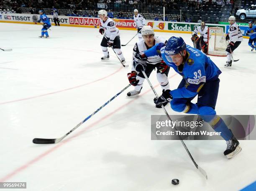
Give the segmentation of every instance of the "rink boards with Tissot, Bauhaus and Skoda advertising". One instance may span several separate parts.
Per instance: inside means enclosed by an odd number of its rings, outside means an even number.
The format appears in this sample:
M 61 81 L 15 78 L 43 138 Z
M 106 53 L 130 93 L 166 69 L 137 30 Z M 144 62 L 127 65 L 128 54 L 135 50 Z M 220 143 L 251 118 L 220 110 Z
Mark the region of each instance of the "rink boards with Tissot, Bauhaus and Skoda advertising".
M 54 24 L 53 15 L 47 15 L 51 23 Z M 17 14 L 8 13 L 0 15 L 0 22 L 4 23 L 23 23 L 23 24 L 38 24 L 37 20 L 40 15 L 31 14 Z M 98 28 L 100 26 L 100 18 L 88 18 L 88 17 L 73 17 L 73 16 L 59 16 L 60 24 L 62 26 L 73 26 L 73 27 L 89 27 Z M 116 26 L 119 29 L 124 30 L 137 30 L 135 28 L 134 20 L 129 19 L 113 19 L 115 20 Z M 40 24 L 40 23 L 39 23 Z M 199 23 L 183 23 L 183 22 L 169 22 L 169 21 L 156 21 L 146 20 L 146 25 L 150 25 L 156 32 L 169 32 L 169 33 L 191 33 L 199 25 Z M 228 30 L 228 25 L 221 24 L 207 24 L 208 27 L 222 27 L 223 31 Z M 245 31 L 242 30 L 243 37 Z

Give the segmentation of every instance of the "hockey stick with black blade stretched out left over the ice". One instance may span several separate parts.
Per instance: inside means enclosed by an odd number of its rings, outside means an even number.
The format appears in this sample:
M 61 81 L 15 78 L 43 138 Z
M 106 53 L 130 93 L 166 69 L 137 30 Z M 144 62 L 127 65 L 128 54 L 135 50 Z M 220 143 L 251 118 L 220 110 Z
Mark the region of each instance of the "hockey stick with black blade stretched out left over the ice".
M 80 122 L 77 126 L 75 126 L 72 130 L 70 130 L 66 135 L 62 136 L 61 138 L 57 138 L 57 139 L 41 139 L 41 138 L 34 138 L 33 139 L 33 143 L 35 144 L 54 144 L 54 143 L 59 143 L 62 139 L 64 139 L 65 137 L 67 137 L 67 135 L 69 135 L 71 132 L 73 132 L 74 130 L 77 129 L 77 127 L 79 127 L 80 125 L 82 125 L 84 122 L 86 122 L 87 120 L 89 120 L 93 115 L 95 115 L 95 113 L 97 113 L 98 111 L 100 111 L 103 107 L 105 107 L 109 102 L 111 102 L 113 99 L 115 99 L 116 97 L 118 97 L 119 94 L 121 94 L 123 91 L 125 91 L 125 89 L 127 89 L 128 87 L 130 87 L 131 84 L 129 84 L 128 86 L 126 86 L 124 89 L 122 89 L 120 92 L 118 92 L 118 94 L 116 94 L 114 97 L 112 97 L 110 100 L 108 100 L 108 102 L 106 102 L 105 104 L 103 104 L 99 109 L 97 109 L 95 112 L 93 112 L 91 115 L 89 115 L 88 117 L 86 117 L 82 122 Z

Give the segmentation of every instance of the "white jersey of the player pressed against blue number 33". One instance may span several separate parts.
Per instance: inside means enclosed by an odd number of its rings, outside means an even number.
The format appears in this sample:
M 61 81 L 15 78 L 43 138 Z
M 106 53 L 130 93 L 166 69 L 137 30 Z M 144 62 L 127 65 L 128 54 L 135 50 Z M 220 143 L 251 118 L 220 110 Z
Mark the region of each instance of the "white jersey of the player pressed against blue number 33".
M 156 36 L 154 37 L 155 39 L 155 42 L 154 42 L 154 45 L 158 44 L 158 43 L 166 43 L 166 39 L 164 39 L 163 37 L 161 36 Z M 141 41 L 138 41 L 134 48 L 133 48 L 133 60 L 135 59 L 134 58 L 134 55 L 136 53 L 140 53 L 140 54 L 143 54 L 144 51 L 148 50 L 148 46 L 146 45 L 145 41 L 144 40 L 141 40 Z M 132 71 L 135 71 L 134 67 L 133 67 L 133 60 L 132 60 Z M 148 60 L 147 60 L 147 64 L 158 64 L 159 62 L 161 62 L 163 59 L 160 57 L 160 56 L 149 56 L 148 57 Z

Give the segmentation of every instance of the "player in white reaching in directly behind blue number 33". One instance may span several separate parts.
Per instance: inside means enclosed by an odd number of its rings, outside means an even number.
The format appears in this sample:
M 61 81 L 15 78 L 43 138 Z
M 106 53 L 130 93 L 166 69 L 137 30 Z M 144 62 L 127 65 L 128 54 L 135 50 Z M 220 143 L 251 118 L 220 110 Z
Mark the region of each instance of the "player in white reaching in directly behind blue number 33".
M 157 43 L 166 43 L 166 40 L 164 38 L 156 37 L 154 35 L 154 30 L 151 28 L 151 26 L 143 26 L 143 28 L 141 29 L 141 33 L 143 40 L 138 41 L 133 48 L 132 71 L 127 74 L 130 84 L 134 86 L 134 90 L 128 92 L 127 96 L 134 96 L 141 93 L 143 81 L 145 80 L 144 75 L 142 74 L 142 72 L 140 72 L 141 70 L 136 68 L 137 60 L 135 59 L 134 55 L 136 53 L 143 54 L 143 51 L 151 48 Z M 143 69 L 146 75 L 149 77 L 151 72 L 155 68 L 157 69 L 156 78 L 161 84 L 161 88 L 169 89 L 169 81 L 167 76 L 170 67 L 164 63 L 163 59 L 160 56 L 148 57 L 146 66 Z

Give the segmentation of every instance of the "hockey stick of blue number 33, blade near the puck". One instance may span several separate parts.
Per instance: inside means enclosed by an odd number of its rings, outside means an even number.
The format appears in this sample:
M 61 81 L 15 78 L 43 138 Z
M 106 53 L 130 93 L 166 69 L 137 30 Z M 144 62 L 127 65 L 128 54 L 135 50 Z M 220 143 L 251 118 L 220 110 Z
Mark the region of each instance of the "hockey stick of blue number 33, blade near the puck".
M 154 92 L 155 96 L 158 98 L 158 95 L 156 93 L 156 90 L 154 89 L 154 87 L 152 86 L 151 82 L 148 79 L 148 76 L 146 75 L 145 71 L 141 71 L 142 74 L 144 75 L 144 77 L 146 78 L 146 80 L 148 81 L 149 86 L 151 87 L 152 91 Z M 169 114 L 167 113 L 166 109 L 164 108 L 163 105 L 161 105 L 162 109 L 164 110 L 164 113 L 166 114 L 166 116 L 168 117 L 168 119 L 172 122 L 171 117 L 169 116 Z M 174 126 L 175 130 L 177 131 L 176 127 Z M 194 163 L 195 167 L 202 173 L 203 176 L 205 176 L 205 178 L 207 179 L 207 173 L 205 172 L 204 169 L 202 169 L 200 166 L 197 165 L 197 163 L 195 162 L 194 158 L 192 157 L 191 153 L 189 152 L 187 146 L 185 145 L 184 141 L 182 140 L 181 136 L 179 135 L 179 139 L 182 142 L 182 145 L 184 146 L 185 150 L 187 151 L 187 154 L 189 155 L 189 157 L 191 158 L 192 162 Z

